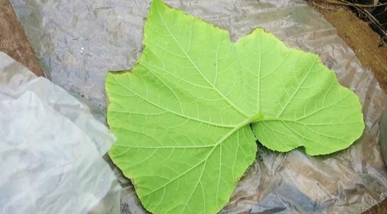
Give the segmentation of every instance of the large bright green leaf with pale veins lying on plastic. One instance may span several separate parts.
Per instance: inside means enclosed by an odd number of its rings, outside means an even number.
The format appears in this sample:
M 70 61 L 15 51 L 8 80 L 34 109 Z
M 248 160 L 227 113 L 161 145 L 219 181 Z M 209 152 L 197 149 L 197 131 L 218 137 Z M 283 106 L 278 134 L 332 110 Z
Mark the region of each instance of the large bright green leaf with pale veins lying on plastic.
M 220 211 L 257 138 L 318 155 L 362 134 L 356 95 L 317 55 L 262 29 L 232 43 L 227 31 L 154 0 L 144 37 L 136 66 L 109 73 L 106 90 L 117 136 L 109 155 L 150 212 Z

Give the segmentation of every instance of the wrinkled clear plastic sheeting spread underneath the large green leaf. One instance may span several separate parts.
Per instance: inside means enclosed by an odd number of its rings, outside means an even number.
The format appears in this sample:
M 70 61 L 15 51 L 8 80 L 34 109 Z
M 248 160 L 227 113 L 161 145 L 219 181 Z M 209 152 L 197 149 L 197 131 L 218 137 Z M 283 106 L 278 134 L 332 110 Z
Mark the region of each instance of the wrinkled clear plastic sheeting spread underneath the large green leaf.
M 11 0 L 38 58 L 53 82 L 84 95 L 104 121 L 107 71 L 131 68 L 141 54 L 150 0 Z M 300 0 L 166 0 L 188 14 L 230 31 L 235 41 L 256 27 L 292 47 L 320 55 L 363 105 L 366 129 L 350 148 L 310 157 L 296 149 L 260 146 L 222 214 L 361 213 L 387 195 L 379 120 L 387 96 L 373 74 L 321 15 Z M 51 71 L 51 72 L 50 72 Z M 143 214 L 134 188 L 125 187 L 122 213 Z

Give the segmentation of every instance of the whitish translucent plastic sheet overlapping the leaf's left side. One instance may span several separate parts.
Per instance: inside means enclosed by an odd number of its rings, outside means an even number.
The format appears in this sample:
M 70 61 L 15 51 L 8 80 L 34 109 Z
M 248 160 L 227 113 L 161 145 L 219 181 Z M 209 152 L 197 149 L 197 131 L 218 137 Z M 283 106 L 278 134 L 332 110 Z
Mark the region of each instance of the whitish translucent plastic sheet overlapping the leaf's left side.
M 0 52 L 1 214 L 119 213 L 102 159 L 114 141 L 88 107 Z

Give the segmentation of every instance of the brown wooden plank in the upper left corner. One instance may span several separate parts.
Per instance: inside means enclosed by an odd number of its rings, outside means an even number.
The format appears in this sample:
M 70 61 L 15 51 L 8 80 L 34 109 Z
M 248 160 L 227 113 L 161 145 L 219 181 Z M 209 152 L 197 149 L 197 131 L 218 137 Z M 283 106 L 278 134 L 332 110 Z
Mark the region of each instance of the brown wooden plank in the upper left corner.
M 0 0 L 0 51 L 37 76 L 45 76 L 9 0 Z

